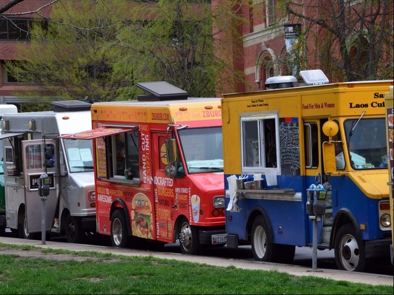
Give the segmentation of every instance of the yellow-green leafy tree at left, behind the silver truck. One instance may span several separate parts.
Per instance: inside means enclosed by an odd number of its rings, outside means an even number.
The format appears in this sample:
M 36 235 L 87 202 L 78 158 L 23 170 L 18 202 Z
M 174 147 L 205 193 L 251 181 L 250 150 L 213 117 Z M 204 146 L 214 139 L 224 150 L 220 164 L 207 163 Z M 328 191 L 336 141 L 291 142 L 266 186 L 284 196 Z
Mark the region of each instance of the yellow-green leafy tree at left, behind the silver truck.
M 115 100 L 118 89 L 132 86 L 132 64 L 117 33 L 127 25 L 127 2 L 65 1 L 52 5 L 48 26 L 31 28 L 31 43 L 19 44 L 20 62 L 6 67 L 20 81 L 43 83 L 64 99 Z M 122 71 L 117 63 L 128 64 Z M 33 75 L 34 73 L 34 75 Z M 34 80 L 32 77 L 34 76 Z

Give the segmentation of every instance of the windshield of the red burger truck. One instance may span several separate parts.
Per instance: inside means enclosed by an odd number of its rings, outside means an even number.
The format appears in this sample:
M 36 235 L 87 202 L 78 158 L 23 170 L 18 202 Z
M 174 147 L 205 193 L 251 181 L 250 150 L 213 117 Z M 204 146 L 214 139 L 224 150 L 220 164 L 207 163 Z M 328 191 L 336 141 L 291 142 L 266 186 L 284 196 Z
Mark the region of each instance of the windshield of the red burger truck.
M 178 131 L 189 173 L 223 172 L 222 127 Z

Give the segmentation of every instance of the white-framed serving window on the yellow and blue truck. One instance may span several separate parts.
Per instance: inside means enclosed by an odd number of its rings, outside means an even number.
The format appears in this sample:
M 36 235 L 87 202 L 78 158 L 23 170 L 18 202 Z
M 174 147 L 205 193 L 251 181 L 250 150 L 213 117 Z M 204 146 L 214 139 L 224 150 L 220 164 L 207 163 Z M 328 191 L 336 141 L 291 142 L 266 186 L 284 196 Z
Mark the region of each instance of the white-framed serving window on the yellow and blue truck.
M 243 171 L 280 167 L 277 115 L 241 118 Z

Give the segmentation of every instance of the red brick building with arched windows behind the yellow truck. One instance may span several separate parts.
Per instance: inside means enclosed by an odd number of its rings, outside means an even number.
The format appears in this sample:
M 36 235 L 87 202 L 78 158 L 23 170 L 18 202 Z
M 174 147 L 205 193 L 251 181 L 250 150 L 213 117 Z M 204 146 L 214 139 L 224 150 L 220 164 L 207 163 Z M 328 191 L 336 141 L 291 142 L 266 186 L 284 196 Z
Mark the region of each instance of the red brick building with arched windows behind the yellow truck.
M 212 7 L 221 5 L 222 0 L 212 0 Z M 309 70 L 309 69 L 322 69 L 327 75 L 330 82 L 342 82 L 346 81 L 345 70 L 341 70 L 340 67 L 334 68 L 331 66 L 333 59 L 341 60 L 340 49 L 338 43 L 334 40 L 329 49 L 324 48 L 327 46 L 326 40 L 328 40 L 330 35 L 328 30 L 322 29 L 322 26 L 311 23 L 310 20 L 305 18 L 300 18 L 294 14 L 285 14 L 283 10 L 279 10 L 277 5 L 279 1 L 277 0 L 255 0 L 253 5 L 250 3 L 244 4 L 239 1 L 239 7 L 234 7 L 234 11 L 242 17 L 245 22 L 238 25 L 237 30 L 243 36 L 242 42 L 236 44 L 232 42 L 223 51 L 223 47 L 219 48 L 218 55 L 230 55 L 232 57 L 233 71 L 241 71 L 244 73 L 245 83 L 241 83 L 236 80 L 232 80 L 230 85 L 227 85 L 227 92 L 244 92 L 253 91 L 259 89 L 266 89 L 264 82 L 267 78 L 278 75 L 295 75 L 299 70 Z M 306 15 L 307 18 L 315 18 L 322 20 L 327 13 L 330 13 L 332 9 L 336 11 L 341 11 L 340 19 L 338 17 L 335 20 L 330 19 L 332 16 L 327 16 L 327 24 L 333 24 L 335 21 L 339 23 L 336 28 L 338 30 L 342 29 L 346 23 L 346 29 L 348 32 L 352 32 L 353 36 L 346 36 L 347 52 L 350 56 L 350 63 L 353 67 L 362 63 L 364 59 L 367 58 L 367 53 L 365 49 L 368 48 L 369 43 L 375 42 L 378 44 L 381 42 L 379 39 L 368 39 L 367 37 L 359 37 L 358 32 L 362 31 L 364 34 L 368 34 L 367 29 L 364 28 L 360 30 L 360 19 L 362 13 L 360 11 L 361 5 L 364 4 L 364 0 L 347 0 L 347 1 L 294 1 L 293 4 L 303 4 L 308 2 L 308 7 L 302 6 L 292 6 L 295 13 Z M 384 3 L 383 3 L 384 2 Z M 342 3 L 343 7 L 330 6 L 339 5 Z M 368 3 L 372 3 L 368 1 Z M 384 24 L 388 32 L 387 44 L 384 44 L 381 55 L 379 55 L 379 63 L 383 64 L 383 67 L 388 68 L 389 75 L 385 79 L 393 79 L 393 67 L 388 65 L 393 63 L 393 1 L 381 1 L 380 13 L 376 13 L 375 6 L 372 6 L 372 10 L 366 11 L 366 16 L 364 16 L 364 27 L 372 27 L 372 24 L 376 27 L 380 26 L 382 18 L 385 19 Z M 387 7 L 384 6 L 387 4 Z M 382 13 L 383 11 L 383 13 Z M 371 17 L 367 14 L 371 13 Z M 383 14 L 386 13 L 384 16 Z M 376 16 L 376 19 L 374 17 Z M 352 20 L 353 18 L 353 20 Z M 349 21 L 352 20 L 352 21 Z M 335 26 L 333 26 L 335 28 Z M 292 68 L 291 63 L 289 63 L 288 51 L 292 47 L 297 45 L 296 38 L 302 30 L 307 30 L 308 34 L 304 37 L 304 53 L 303 64 L 308 68 Z M 229 33 L 227 30 L 226 33 Z M 376 33 L 376 31 L 374 32 Z M 225 32 L 220 33 L 222 38 Z M 221 38 L 219 37 L 219 38 Z M 227 39 L 233 39 L 228 38 Z M 370 37 L 370 36 L 369 36 Z M 361 49 L 358 47 L 358 41 L 361 40 Z M 363 47 L 364 46 L 364 47 Z M 362 51 L 364 50 L 364 51 Z M 328 52 L 328 54 L 326 54 Z M 360 53 L 360 55 L 358 55 Z M 328 55 L 331 59 L 328 59 Z M 354 79 L 350 81 L 365 80 Z M 371 79 L 373 80 L 373 79 Z M 376 78 L 379 80 L 379 77 Z

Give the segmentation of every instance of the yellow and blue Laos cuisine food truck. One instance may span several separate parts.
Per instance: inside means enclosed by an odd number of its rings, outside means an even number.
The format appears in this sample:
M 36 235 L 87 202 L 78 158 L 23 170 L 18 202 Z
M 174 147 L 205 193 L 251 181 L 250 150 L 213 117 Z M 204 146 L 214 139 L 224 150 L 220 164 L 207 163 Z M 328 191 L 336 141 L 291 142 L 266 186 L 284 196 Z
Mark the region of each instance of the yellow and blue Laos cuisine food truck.
M 339 269 L 363 271 L 392 243 L 385 92 L 393 80 L 300 74 L 302 83 L 272 77 L 268 90 L 222 98 L 227 245 L 291 263 L 296 246 L 315 243 L 334 250 Z

